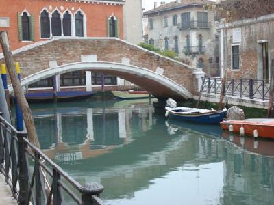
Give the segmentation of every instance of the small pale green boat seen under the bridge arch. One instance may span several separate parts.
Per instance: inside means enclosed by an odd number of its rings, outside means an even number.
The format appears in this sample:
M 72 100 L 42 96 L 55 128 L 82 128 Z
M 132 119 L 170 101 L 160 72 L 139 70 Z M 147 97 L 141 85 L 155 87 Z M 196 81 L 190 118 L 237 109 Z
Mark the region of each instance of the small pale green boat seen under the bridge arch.
M 147 91 L 112 91 L 112 94 L 121 100 L 128 99 L 140 99 L 140 98 L 149 98 L 149 93 Z

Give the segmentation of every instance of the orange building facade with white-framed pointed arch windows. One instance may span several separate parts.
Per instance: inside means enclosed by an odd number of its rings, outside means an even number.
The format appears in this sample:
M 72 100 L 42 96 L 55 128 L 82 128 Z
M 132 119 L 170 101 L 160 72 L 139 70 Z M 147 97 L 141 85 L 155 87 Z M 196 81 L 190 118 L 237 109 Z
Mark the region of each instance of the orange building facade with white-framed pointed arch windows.
M 0 0 L 0 3 L 0 30 L 8 31 L 12 50 L 57 37 L 124 38 L 124 0 Z M 130 38 L 130 33 L 127 34 L 129 41 L 135 38 Z M 86 71 L 69 72 L 56 78 L 59 90 L 84 90 L 87 87 L 94 87 L 96 90 L 96 87 L 101 87 L 102 84 L 105 85 L 105 90 L 108 90 L 108 87 L 116 89 L 125 83 L 130 85 L 118 77 Z M 52 87 L 51 77 L 29 85 L 27 90 L 51 90 Z

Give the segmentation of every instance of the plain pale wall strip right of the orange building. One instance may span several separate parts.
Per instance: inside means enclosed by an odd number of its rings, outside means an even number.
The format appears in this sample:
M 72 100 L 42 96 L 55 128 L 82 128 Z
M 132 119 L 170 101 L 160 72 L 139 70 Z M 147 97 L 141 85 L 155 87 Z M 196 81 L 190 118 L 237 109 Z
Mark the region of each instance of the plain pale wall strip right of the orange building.
M 133 44 L 142 42 L 142 0 L 125 1 L 124 38 Z

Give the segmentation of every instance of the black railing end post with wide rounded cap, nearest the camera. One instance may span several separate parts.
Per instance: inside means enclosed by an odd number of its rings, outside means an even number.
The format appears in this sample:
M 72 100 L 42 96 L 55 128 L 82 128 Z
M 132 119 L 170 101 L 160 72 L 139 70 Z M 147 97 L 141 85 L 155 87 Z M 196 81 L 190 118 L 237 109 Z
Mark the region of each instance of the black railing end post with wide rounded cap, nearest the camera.
M 95 197 L 99 197 L 100 193 L 103 192 L 103 189 L 103 186 L 101 184 L 98 184 L 97 182 L 93 182 L 92 184 L 81 187 L 80 192 L 82 193 L 82 205 L 100 204 L 97 200 L 95 200 Z

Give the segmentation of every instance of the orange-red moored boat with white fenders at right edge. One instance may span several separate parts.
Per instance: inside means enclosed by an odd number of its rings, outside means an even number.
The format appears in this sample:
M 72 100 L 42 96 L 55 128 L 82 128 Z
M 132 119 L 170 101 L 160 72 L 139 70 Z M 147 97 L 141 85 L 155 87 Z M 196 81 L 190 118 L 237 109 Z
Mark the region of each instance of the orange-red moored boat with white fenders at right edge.
M 221 122 L 223 130 L 240 133 L 240 128 L 243 128 L 243 132 L 247 135 L 258 135 L 258 137 L 269 137 L 274 139 L 274 119 L 268 118 L 254 118 L 246 120 L 224 120 Z M 256 137 L 256 136 L 255 136 Z

